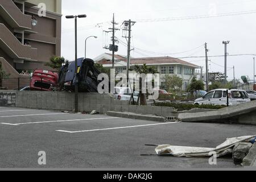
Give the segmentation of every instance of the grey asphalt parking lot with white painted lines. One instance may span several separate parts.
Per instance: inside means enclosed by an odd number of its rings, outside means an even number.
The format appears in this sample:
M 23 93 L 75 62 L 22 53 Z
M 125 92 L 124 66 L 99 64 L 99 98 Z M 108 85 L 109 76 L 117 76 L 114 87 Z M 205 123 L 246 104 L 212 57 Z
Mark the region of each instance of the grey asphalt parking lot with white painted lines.
M 144 144 L 216 147 L 226 138 L 255 135 L 256 126 L 158 123 L 107 115 L 0 107 L 0 168 L 236 167 L 232 158 L 144 156 Z M 38 152 L 46 152 L 46 165 Z

